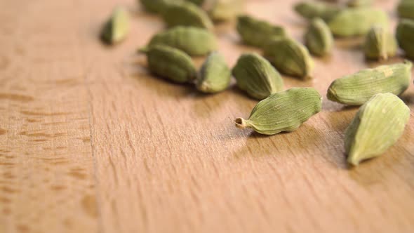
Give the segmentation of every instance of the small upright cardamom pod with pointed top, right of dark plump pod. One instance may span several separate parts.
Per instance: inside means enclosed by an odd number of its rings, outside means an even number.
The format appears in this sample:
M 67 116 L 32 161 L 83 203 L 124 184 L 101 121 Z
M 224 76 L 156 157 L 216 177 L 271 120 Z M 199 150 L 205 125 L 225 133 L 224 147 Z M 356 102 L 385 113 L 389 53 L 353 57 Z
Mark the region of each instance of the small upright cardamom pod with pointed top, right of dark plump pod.
M 218 52 L 208 55 L 196 80 L 197 90 L 204 93 L 224 91 L 230 84 L 232 73 L 225 58 Z

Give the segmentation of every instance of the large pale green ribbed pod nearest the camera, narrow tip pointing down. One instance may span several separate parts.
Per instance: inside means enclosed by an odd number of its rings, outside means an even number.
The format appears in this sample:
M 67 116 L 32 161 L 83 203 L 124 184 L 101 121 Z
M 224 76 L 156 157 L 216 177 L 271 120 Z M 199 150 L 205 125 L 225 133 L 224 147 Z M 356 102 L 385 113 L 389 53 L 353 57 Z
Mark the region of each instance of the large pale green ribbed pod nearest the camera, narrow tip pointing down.
M 348 163 L 378 157 L 403 134 L 410 118 L 410 109 L 392 93 L 374 95 L 356 113 L 345 131 Z

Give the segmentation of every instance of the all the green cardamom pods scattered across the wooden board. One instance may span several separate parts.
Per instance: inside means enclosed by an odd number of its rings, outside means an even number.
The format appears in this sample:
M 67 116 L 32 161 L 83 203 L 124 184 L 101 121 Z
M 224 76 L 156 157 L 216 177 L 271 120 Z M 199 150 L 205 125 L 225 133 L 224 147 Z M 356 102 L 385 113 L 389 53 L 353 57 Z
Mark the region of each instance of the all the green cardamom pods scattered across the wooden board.
M 365 36 L 363 53 L 368 59 L 386 60 L 402 48 L 414 58 L 414 0 L 402 0 L 396 36 L 387 27 L 387 13 L 374 8 L 373 0 L 350 0 L 346 5 L 303 1 L 294 10 L 309 20 L 305 44 L 288 36 L 286 30 L 264 20 L 242 15 L 243 0 L 140 0 L 158 13 L 168 26 L 152 36 L 138 51 L 147 55 L 149 70 L 177 83 L 193 83 L 203 93 L 228 88 L 232 76 L 236 86 L 251 98 L 261 100 L 248 119 L 237 118 L 239 128 L 253 128 L 265 135 L 295 131 L 322 109 L 322 97 L 314 88 L 284 91 L 282 74 L 311 79 L 312 55 L 321 57 L 333 50 L 334 36 Z M 213 22 L 236 19 L 243 44 L 263 53 L 244 53 L 232 69 L 217 52 Z M 116 8 L 102 29 L 109 44 L 128 34 L 128 12 Z M 206 60 L 196 69 L 192 56 Z M 329 100 L 344 105 L 362 105 L 345 131 L 345 150 L 350 164 L 383 154 L 402 135 L 410 110 L 400 95 L 410 84 L 412 63 L 405 61 L 363 69 L 336 79 L 328 88 Z M 280 73 L 279 73 L 280 72 Z

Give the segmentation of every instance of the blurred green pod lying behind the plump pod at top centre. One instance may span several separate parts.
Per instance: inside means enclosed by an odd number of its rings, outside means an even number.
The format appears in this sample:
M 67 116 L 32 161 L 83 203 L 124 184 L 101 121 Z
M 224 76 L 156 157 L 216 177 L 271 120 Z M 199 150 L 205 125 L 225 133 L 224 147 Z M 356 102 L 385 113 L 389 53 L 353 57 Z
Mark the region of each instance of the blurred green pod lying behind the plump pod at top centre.
M 257 20 L 248 15 L 241 15 L 237 18 L 237 32 L 244 43 L 262 47 L 274 36 L 286 36 L 285 29 L 269 22 Z

